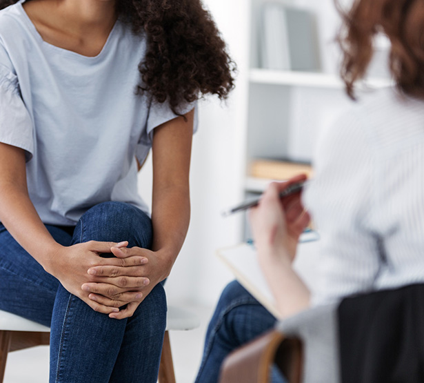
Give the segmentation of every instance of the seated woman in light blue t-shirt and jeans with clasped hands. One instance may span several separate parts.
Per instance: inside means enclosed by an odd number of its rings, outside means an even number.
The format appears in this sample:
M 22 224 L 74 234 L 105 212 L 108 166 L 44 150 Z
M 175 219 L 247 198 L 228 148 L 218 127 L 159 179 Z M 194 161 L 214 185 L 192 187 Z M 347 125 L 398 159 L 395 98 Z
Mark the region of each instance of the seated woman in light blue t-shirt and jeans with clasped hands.
M 200 0 L 0 8 L 0 309 L 51 326 L 50 382 L 156 382 L 196 100 L 233 88 L 225 43 Z

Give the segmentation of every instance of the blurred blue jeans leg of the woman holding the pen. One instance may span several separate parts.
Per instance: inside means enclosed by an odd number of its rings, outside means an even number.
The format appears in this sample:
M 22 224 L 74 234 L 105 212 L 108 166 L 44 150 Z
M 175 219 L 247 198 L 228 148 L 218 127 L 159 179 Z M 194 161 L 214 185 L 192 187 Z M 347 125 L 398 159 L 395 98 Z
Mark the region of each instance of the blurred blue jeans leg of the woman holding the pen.
M 236 348 L 270 330 L 276 322 L 248 291 L 233 281 L 228 284 L 206 333 L 203 360 L 196 383 L 216 383 L 225 357 Z M 277 369 L 272 369 L 273 383 L 285 382 Z

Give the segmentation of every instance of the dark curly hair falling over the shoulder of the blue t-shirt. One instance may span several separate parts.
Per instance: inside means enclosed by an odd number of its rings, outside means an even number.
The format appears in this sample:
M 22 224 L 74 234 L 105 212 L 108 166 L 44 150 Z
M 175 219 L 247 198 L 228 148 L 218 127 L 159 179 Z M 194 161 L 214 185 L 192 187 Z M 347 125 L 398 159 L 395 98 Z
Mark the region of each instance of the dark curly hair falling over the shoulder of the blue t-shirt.
M 0 0 L 0 9 L 17 1 Z M 176 115 L 181 104 L 203 95 L 228 97 L 236 65 L 201 0 L 117 0 L 116 4 L 118 17 L 134 33 L 147 36 L 138 94 L 147 92 L 153 101 L 168 101 Z

